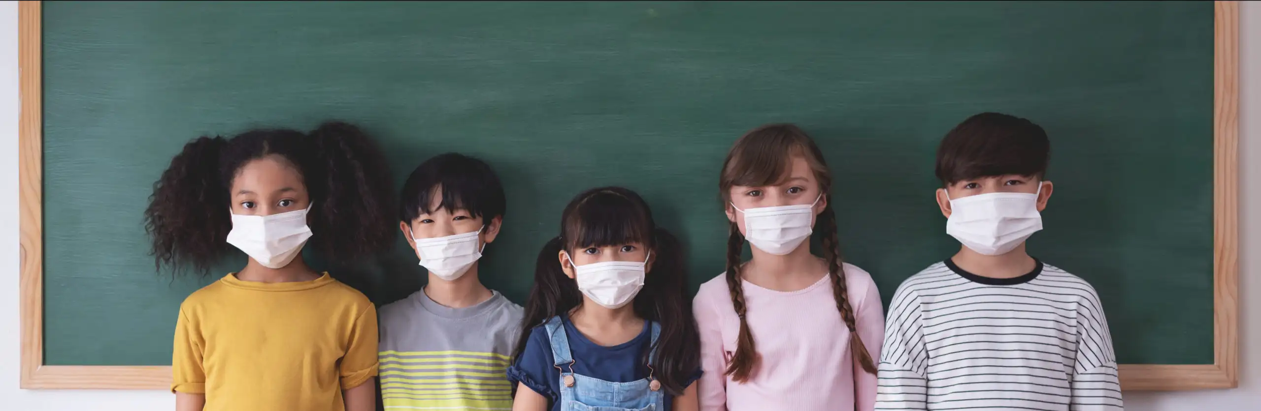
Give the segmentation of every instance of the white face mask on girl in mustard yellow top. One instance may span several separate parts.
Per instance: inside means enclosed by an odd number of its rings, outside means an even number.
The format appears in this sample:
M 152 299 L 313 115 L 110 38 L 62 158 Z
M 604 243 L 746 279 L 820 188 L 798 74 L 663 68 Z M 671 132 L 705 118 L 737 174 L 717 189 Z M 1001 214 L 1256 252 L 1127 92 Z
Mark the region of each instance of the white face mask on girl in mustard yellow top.
M 306 226 L 306 210 L 272 215 L 232 215 L 228 244 L 245 251 L 262 266 L 277 269 L 289 265 L 303 251 L 303 244 L 311 238 Z M 232 212 L 228 210 L 228 212 Z

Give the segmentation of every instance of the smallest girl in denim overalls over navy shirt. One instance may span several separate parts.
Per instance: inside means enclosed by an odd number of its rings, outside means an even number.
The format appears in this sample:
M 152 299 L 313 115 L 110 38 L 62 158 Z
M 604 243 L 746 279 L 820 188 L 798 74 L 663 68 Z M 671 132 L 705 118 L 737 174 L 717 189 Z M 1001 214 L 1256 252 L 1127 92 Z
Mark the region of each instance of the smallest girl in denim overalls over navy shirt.
M 516 411 L 696 410 L 696 326 L 673 235 L 622 187 L 580 194 L 538 254 Z M 642 288 L 642 289 L 641 289 Z

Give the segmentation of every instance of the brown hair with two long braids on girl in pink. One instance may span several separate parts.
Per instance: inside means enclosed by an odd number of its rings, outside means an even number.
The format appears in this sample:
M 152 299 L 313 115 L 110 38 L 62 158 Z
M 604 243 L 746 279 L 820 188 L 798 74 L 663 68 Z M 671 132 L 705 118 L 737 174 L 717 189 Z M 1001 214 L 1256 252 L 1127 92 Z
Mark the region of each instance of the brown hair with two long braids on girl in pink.
M 850 352 L 863 366 L 863 370 L 875 373 L 871 353 L 863 344 L 863 338 L 855 328 L 854 308 L 850 307 L 849 290 L 845 284 L 845 266 L 841 261 L 840 241 L 836 236 L 836 214 L 832 211 L 832 173 L 823 161 L 823 152 L 805 131 L 793 124 L 767 124 L 749 131 L 735 142 L 723 162 L 719 177 L 719 191 L 724 206 L 731 201 L 731 186 L 768 186 L 783 181 L 792 165 L 793 156 L 802 156 L 815 172 L 818 189 L 827 206 L 815 222 L 818 227 L 820 243 L 823 246 L 823 259 L 827 260 L 827 275 L 832 280 L 832 295 L 836 297 L 836 309 L 841 312 L 845 327 L 850 329 Z M 740 227 L 731 222 L 726 241 L 726 285 L 731 293 L 731 305 L 740 318 L 740 333 L 736 338 L 735 353 L 728 362 L 726 373 L 736 382 L 748 381 L 758 364 L 758 351 L 745 321 L 744 287 L 740 283 L 740 253 L 744 249 L 744 235 Z

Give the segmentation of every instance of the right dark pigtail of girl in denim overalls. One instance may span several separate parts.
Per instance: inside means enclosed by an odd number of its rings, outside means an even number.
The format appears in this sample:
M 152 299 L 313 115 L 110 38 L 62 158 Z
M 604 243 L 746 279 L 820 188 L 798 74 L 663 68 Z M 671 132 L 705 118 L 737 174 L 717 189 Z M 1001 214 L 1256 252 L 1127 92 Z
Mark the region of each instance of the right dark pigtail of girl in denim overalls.
M 683 382 L 700 368 L 701 343 L 690 299 L 685 295 L 687 264 L 682 244 L 666 229 L 653 230 L 652 250 L 656 258 L 643 290 L 634 299 L 634 310 L 661 324 L 657 357 L 652 358 L 654 377 L 666 392 L 681 396 L 686 388 Z

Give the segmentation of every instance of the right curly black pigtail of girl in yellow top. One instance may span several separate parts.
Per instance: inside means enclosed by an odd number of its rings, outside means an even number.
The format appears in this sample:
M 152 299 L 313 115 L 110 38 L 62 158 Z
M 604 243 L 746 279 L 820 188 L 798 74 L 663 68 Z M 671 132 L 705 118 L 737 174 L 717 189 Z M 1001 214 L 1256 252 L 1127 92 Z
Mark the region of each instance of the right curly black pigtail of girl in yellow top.
M 330 261 L 388 250 L 395 243 L 393 182 L 367 133 L 343 122 L 310 132 L 314 153 L 306 187 L 317 199 L 311 243 Z

